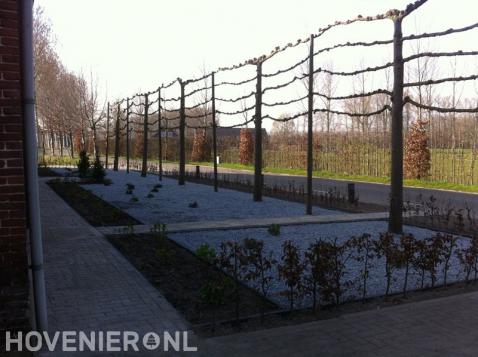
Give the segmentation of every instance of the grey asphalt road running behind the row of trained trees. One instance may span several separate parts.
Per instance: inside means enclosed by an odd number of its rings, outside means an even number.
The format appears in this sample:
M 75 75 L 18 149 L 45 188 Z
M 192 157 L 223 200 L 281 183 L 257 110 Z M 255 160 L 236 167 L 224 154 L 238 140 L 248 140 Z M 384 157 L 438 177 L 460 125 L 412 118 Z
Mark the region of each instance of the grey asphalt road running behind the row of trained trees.
M 164 164 L 164 170 L 177 169 L 177 164 Z M 186 170 L 194 172 L 195 166 L 186 165 Z M 210 166 L 201 166 L 201 172 L 212 172 L 213 168 Z M 220 177 L 228 177 L 229 180 L 249 180 L 253 182 L 253 173 L 251 171 L 234 170 L 226 168 L 218 168 Z M 289 184 L 299 187 L 306 185 L 305 176 L 283 175 L 283 174 L 264 174 L 264 181 L 266 185 L 288 186 Z M 353 181 L 332 180 L 323 178 L 313 179 L 314 190 L 326 191 L 328 189 L 337 188 L 342 192 L 347 192 L 347 184 Z M 355 191 L 361 202 L 375 203 L 388 206 L 390 186 L 387 184 L 355 182 Z M 423 199 L 420 199 L 419 196 Z M 431 196 L 437 199 L 437 204 L 441 207 L 451 206 L 454 208 L 465 208 L 466 206 L 478 212 L 478 194 L 464 193 L 446 190 L 434 190 L 427 188 L 405 187 L 404 200 L 410 202 L 427 201 Z

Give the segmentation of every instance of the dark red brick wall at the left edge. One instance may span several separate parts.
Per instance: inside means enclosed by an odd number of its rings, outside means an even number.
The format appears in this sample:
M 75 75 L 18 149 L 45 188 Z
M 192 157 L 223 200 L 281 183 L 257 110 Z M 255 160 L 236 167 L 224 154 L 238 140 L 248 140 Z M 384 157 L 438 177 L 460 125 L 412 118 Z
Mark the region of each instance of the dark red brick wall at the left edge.
M 0 1 L 0 340 L 28 328 L 20 4 Z

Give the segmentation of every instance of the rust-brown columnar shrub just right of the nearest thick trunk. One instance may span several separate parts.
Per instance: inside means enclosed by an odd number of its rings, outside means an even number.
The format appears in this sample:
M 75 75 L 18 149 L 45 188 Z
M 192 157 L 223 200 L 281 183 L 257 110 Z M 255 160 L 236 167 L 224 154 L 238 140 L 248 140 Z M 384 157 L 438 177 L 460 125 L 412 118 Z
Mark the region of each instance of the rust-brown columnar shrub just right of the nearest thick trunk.
M 426 126 L 425 121 L 417 120 L 408 132 L 404 160 L 407 178 L 420 180 L 430 175 L 431 156 Z

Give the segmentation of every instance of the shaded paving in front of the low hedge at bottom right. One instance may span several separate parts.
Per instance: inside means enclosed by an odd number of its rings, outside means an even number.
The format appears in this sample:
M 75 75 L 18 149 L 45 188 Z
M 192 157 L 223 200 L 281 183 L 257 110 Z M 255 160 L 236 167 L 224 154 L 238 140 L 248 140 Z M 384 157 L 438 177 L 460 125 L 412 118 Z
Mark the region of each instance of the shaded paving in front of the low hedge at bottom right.
M 211 357 L 478 355 L 478 293 L 208 339 Z

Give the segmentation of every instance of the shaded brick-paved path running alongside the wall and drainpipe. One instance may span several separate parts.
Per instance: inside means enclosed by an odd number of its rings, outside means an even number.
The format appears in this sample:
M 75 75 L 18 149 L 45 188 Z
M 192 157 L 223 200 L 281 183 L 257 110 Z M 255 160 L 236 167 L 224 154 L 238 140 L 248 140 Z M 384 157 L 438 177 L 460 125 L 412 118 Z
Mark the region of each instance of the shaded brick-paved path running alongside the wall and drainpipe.
M 40 204 L 50 331 L 188 329 L 158 290 L 44 182 Z

